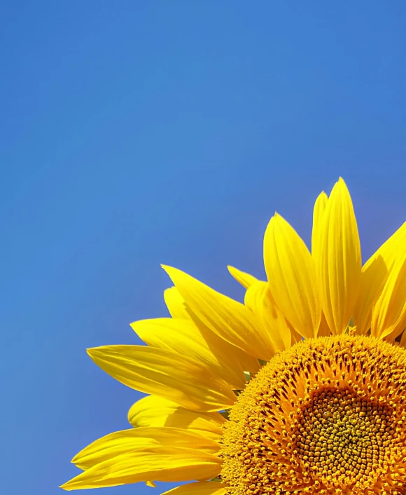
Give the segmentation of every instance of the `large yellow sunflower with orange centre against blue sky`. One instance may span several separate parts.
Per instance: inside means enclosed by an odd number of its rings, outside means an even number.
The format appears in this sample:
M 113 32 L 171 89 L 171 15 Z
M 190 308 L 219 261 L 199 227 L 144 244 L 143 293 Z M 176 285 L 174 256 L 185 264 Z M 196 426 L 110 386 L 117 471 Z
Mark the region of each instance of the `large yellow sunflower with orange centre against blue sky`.
M 361 264 L 342 179 L 314 205 L 311 252 L 275 214 L 267 281 L 244 304 L 164 266 L 172 318 L 147 346 L 87 352 L 146 397 L 132 428 L 74 458 L 66 490 L 186 482 L 172 495 L 406 494 L 406 223 Z

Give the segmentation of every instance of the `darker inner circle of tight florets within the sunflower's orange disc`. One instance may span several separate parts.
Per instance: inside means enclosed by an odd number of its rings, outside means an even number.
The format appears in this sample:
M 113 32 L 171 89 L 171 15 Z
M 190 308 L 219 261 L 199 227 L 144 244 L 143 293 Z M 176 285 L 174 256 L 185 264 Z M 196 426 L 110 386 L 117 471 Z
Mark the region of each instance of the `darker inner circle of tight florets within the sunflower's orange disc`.
M 391 407 L 349 388 L 325 388 L 302 407 L 293 452 L 326 482 L 365 482 L 387 467 L 394 437 Z

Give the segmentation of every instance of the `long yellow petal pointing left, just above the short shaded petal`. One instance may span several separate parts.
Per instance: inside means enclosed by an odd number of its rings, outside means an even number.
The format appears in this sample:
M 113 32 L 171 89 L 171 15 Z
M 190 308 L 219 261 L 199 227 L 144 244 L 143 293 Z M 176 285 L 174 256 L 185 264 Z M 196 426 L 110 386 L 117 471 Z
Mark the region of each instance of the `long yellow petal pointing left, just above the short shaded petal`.
M 235 394 L 207 366 L 165 349 L 102 346 L 88 349 L 92 360 L 111 377 L 135 390 L 173 400 L 193 411 L 219 411 Z

